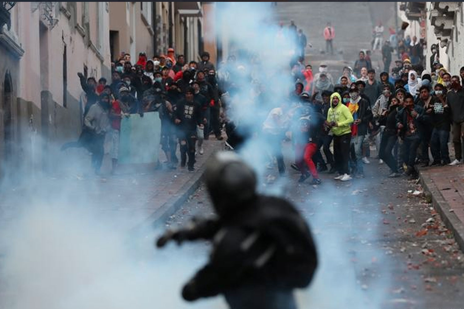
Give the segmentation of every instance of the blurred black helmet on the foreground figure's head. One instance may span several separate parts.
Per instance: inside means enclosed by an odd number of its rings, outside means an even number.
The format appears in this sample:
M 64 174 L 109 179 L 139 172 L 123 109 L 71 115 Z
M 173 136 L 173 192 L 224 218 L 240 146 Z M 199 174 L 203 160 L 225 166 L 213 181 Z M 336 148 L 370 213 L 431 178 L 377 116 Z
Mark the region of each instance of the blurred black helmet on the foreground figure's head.
M 218 152 L 206 165 L 203 177 L 220 217 L 246 207 L 256 197 L 254 170 L 233 152 Z

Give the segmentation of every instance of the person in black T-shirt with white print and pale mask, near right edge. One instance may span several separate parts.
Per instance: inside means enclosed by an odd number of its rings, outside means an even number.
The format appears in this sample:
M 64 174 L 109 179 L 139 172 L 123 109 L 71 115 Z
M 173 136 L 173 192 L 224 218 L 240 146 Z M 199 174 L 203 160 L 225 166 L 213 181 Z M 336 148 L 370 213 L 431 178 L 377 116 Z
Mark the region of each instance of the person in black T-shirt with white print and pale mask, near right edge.
M 446 98 L 446 88 L 442 84 L 435 85 L 437 100 L 432 109 L 432 137 L 430 150 L 433 162 L 431 166 L 447 165 L 451 163 L 448 150 L 450 139 L 451 110 Z

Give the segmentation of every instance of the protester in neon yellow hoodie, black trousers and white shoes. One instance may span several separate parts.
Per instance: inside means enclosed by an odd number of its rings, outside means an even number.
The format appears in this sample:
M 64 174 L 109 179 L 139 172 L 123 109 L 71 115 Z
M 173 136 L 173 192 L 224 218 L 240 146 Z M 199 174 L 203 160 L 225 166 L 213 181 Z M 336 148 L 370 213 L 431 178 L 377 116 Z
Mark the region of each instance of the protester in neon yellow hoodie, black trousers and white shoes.
M 327 113 L 326 125 L 334 135 L 334 159 L 339 176 L 337 180 L 351 180 L 349 176 L 348 160 L 351 144 L 351 124 L 353 115 L 348 107 L 342 104 L 342 97 L 335 92 L 330 96 L 330 108 Z

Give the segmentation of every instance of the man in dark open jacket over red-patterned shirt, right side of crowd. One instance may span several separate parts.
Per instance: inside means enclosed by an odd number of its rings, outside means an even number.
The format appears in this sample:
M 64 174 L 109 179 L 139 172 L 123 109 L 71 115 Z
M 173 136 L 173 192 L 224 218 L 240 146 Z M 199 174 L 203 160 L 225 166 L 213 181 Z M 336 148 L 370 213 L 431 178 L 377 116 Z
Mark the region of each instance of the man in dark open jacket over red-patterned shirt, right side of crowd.
M 424 114 L 424 109 L 414 105 L 414 97 L 411 94 L 405 96 L 405 107 L 398 111 L 396 116 L 397 128 L 403 139 L 403 160 L 406 163 L 406 175 L 416 179 L 419 175 L 414 168 L 417 150 L 420 144 L 419 128 Z

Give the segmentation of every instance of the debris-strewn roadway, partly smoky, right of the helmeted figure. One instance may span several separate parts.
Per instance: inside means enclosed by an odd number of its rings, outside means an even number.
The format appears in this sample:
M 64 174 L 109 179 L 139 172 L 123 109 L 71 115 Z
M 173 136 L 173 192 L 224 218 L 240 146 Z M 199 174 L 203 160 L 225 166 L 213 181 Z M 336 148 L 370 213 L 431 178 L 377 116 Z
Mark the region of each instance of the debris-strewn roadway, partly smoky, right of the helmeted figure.
M 365 170 L 366 178 L 348 184 L 324 173 L 317 187 L 299 184 L 299 175 L 288 173 L 285 196 L 308 220 L 321 261 L 314 283 L 298 293 L 300 308 L 344 303 L 348 308 L 460 308 L 464 255 L 430 197 L 415 181 L 387 178 L 378 160 Z M 211 214 L 207 192 L 200 188 L 167 224 L 185 225 L 192 216 Z M 188 252 L 205 255 L 207 248 Z

